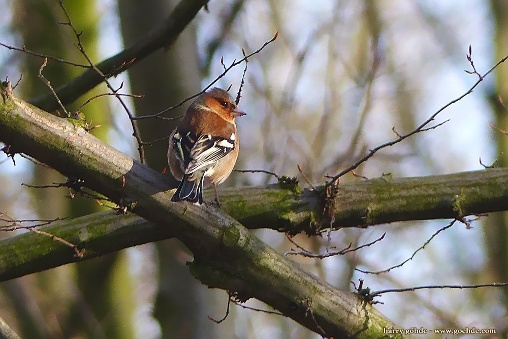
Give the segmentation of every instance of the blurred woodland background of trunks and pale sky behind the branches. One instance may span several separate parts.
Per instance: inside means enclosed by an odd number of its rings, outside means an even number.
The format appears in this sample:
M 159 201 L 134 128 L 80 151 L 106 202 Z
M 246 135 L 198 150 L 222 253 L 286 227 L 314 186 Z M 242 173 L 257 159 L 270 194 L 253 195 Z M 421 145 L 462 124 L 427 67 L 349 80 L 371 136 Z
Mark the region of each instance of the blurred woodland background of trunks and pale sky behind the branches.
M 88 54 L 99 61 L 129 46 L 163 20 L 176 2 L 64 2 Z M 56 2 L 0 0 L 0 42 L 83 62 Z M 145 95 L 128 101 L 137 115 L 153 114 L 197 93 L 222 72 L 225 63 L 252 51 L 276 30 L 279 39 L 248 64 L 240 107 L 248 115 L 238 121 L 242 149 L 237 168 L 258 168 L 299 175 L 297 164 L 313 182 L 334 174 L 369 147 L 392 139 L 392 127 L 414 129 L 437 108 L 464 93 L 476 81 L 465 73 L 472 45 L 480 72 L 508 54 L 503 0 L 479 1 L 323 1 L 277 2 L 228 0 L 211 2 L 168 50 L 160 50 L 111 81 L 123 90 Z M 21 72 L 18 96 L 47 93 L 37 78 L 40 58 L 0 49 L 0 71 L 10 80 Z M 451 121 L 386 149 L 357 174 L 379 177 L 416 176 L 481 169 L 504 150 L 506 166 L 508 101 L 503 76 L 496 71 L 479 90 L 443 112 Z M 238 88 L 243 69 L 236 68 L 219 86 Z M 80 69 L 50 63 L 44 74 L 55 85 Z M 15 81 L 15 80 L 14 80 Z M 104 93 L 103 86 L 79 99 Z M 171 112 L 182 114 L 186 107 Z M 94 135 L 137 156 L 132 129 L 121 106 L 111 98 L 84 109 L 87 119 L 102 125 Z M 140 122 L 143 140 L 169 135 L 175 121 Z M 147 163 L 166 166 L 167 141 L 146 148 Z M 503 158 L 504 157 L 504 158 Z M 14 179 L 13 179 L 14 178 Z M 54 171 L 16 158 L 0 159 L 0 211 L 12 218 L 76 217 L 99 207 L 86 199 L 70 200 L 65 189 L 35 190 L 21 182 L 62 181 Z M 265 174 L 234 173 L 225 184 L 273 182 Z M 346 180 L 361 180 L 346 175 Z M 506 278 L 506 213 L 464 229 L 458 224 L 434 239 L 414 260 L 382 275 L 366 275 L 355 267 L 378 270 L 409 257 L 448 221 L 406 222 L 332 234 L 332 244 L 364 243 L 383 232 L 387 238 L 368 250 L 323 261 L 296 258 L 306 270 L 334 286 L 350 289 L 350 281 L 366 280 L 375 289 L 423 284 L 476 284 Z M 291 244 L 283 234 L 257 231 L 284 252 Z M 0 234 L 8 237 L 11 234 Z M 299 243 L 323 252 L 326 240 L 298 236 Z M 467 249 L 464 251 L 464 248 Z M 22 337 L 67 338 L 315 338 L 292 320 L 232 307 L 216 325 L 207 315 L 224 315 L 227 294 L 207 290 L 190 276 L 189 253 L 175 240 L 146 244 L 87 262 L 66 265 L 0 284 L 0 316 Z M 383 296 L 378 309 L 403 327 L 476 327 L 506 331 L 506 296 L 501 289 L 432 290 Z M 248 305 L 263 307 L 260 302 Z

